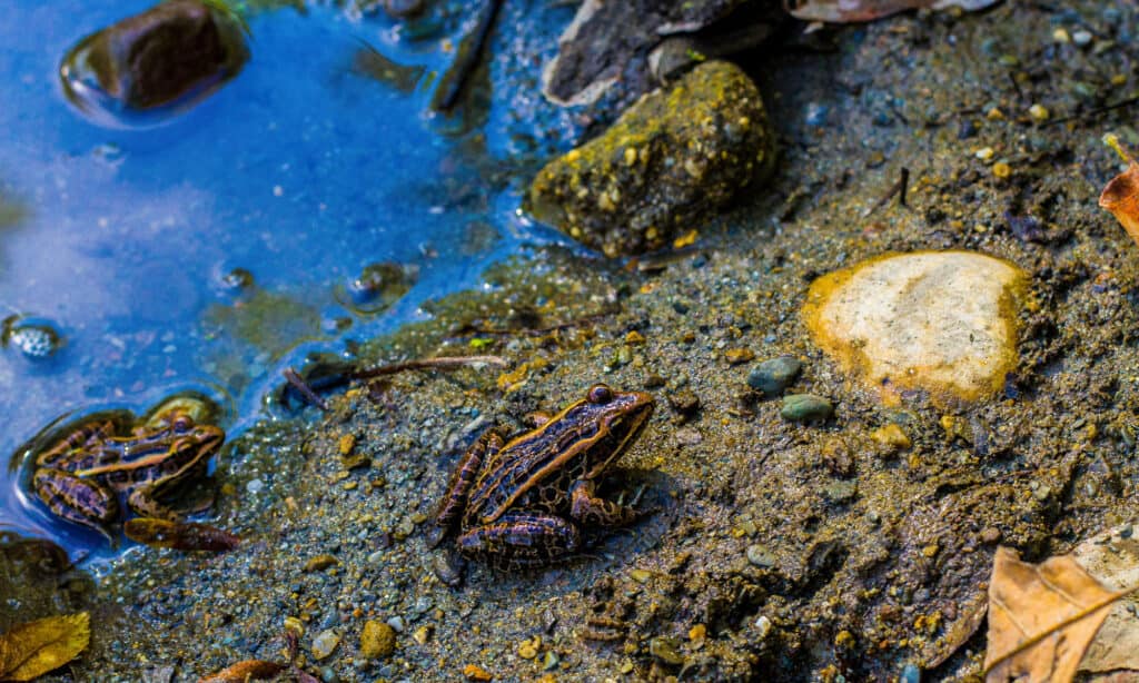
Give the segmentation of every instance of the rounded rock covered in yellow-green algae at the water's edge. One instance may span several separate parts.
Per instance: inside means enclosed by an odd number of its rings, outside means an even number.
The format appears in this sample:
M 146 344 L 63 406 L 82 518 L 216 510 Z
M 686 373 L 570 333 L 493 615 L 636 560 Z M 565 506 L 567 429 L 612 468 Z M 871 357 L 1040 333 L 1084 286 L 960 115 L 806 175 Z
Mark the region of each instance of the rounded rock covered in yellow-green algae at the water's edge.
M 708 61 L 547 164 L 530 209 L 606 256 L 656 249 L 770 171 L 772 138 L 747 74 Z

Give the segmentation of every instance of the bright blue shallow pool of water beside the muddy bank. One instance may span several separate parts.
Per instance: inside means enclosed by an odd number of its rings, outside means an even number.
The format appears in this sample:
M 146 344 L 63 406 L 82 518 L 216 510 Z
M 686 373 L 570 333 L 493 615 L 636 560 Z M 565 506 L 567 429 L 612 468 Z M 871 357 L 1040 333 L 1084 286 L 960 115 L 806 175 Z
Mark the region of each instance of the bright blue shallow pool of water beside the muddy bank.
M 11 205 L 19 216 L 0 228 L 0 318 L 48 319 L 65 339 L 47 360 L 0 349 L 3 453 L 62 415 L 140 412 L 187 388 L 223 404 L 222 426 L 237 434 L 303 352 L 417 319 L 424 301 L 476 286 L 491 262 L 549 238 L 517 212 L 525 179 L 498 171 L 570 125 L 547 113 L 534 127 L 530 114 L 546 110 L 538 68 L 518 77 L 511 61 L 548 58 L 559 20 L 544 36 L 531 23 L 522 38 L 510 13 L 526 3 L 500 18 L 482 116 L 429 109 L 434 76 L 475 18 L 459 2 L 436 7 L 437 28 L 417 39 L 382 15 L 330 7 L 254 16 L 252 60 L 199 106 L 158 127 L 97 125 L 64 98 L 59 61 L 149 5 L 17 0 L 0 22 L 0 221 Z M 563 19 L 572 9 L 535 11 Z M 362 73 L 361 41 L 411 68 L 395 83 Z M 508 43 L 546 54 L 511 57 Z M 499 237 L 472 242 L 476 222 Z M 418 280 L 391 310 L 354 313 L 337 290 L 377 262 Z M 235 268 L 256 282 L 244 302 L 220 283 Z M 260 328 L 248 324 L 259 306 L 272 313 Z M 28 501 L 16 472 L 6 477 L 0 527 L 100 543 Z

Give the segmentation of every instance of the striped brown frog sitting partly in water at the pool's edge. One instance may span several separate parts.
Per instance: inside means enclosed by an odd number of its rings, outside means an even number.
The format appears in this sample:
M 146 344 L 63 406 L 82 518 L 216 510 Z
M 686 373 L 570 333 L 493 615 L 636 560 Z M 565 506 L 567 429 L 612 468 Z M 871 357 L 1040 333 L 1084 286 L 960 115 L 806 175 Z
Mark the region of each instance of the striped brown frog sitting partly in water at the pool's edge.
M 174 519 L 159 502 L 206 472 L 226 433 L 196 425 L 190 414 L 172 409 L 129 435 L 116 434 L 113 420 L 84 423 L 35 459 L 32 486 L 58 517 L 108 537 L 120 516 L 120 494 L 145 517 Z

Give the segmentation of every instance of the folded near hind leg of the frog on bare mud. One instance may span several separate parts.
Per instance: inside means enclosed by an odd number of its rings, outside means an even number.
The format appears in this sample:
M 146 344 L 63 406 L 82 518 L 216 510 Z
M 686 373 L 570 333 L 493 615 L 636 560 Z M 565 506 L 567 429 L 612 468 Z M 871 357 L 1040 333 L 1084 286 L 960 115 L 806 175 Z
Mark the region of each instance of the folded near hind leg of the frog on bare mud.
M 468 529 L 459 536 L 462 554 L 499 569 L 541 567 L 581 548 L 573 522 L 534 512 L 507 512 L 498 521 Z

